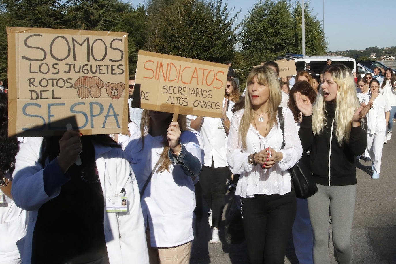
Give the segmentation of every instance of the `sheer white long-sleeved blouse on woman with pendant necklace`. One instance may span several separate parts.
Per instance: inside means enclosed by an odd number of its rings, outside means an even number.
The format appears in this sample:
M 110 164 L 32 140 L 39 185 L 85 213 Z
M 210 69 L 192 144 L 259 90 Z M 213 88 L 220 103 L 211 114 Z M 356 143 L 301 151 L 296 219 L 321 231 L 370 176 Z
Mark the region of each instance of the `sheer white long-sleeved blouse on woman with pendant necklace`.
M 293 114 L 286 107 L 282 108 L 285 120 L 285 147 L 282 147 L 282 130 L 280 129 L 278 115 L 277 125 L 269 131 L 267 137 L 263 137 L 250 125 L 246 135 L 246 149 L 238 141 L 238 130 L 244 109 L 234 113 L 231 120 L 230 133 L 228 134 L 227 161 L 232 173 L 240 174 L 236 195 L 243 198 L 254 197 L 255 194 L 286 194 L 291 191 L 291 176 L 287 169 L 293 167 L 301 158 L 303 148 L 297 134 Z M 254 152 L 268 148 L 274 148 L 276 152 L 282 152 L 283 158 L 269 169 L 262 169 L 260 165 L 247 162 L 247 156 Z

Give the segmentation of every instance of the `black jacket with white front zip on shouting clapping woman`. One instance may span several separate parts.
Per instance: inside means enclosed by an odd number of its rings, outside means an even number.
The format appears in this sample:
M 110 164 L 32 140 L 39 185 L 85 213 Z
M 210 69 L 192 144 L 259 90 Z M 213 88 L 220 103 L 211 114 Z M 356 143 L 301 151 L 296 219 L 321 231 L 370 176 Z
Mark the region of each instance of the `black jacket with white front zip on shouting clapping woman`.
M 314 135 L 312 132 L 312 115 L 303 116 L 298 132 L 303 149 L 311 152 L 310 166 L 314 181 L 325 186 L 356 184 L 355 160 L 366 149 L 366 130 L 362 126 L 352 127 L 349 142 L 343 141 L 340 145 L 335 136 L 335 103 L 326 103 L 326 110 L 327 124 L 320 134 Z

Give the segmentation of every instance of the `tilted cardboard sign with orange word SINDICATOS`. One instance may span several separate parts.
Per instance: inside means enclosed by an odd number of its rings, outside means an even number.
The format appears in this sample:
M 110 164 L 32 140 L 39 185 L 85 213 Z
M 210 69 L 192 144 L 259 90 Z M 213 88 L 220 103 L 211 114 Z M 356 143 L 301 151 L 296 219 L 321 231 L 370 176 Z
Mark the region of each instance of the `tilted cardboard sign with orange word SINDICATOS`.
M 140 50 L 140 107 L 219 118 L 227 72 L 228 65 Z

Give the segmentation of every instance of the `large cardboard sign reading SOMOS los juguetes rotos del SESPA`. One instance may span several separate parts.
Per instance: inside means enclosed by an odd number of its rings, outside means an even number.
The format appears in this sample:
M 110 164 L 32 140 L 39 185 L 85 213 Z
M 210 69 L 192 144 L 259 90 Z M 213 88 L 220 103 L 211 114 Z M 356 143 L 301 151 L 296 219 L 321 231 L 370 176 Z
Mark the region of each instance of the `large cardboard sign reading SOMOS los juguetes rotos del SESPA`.
M 9 135 L 128 132 L 128 33 L 7 28 Z M 70 121 L 70 120 L 74 120 Z

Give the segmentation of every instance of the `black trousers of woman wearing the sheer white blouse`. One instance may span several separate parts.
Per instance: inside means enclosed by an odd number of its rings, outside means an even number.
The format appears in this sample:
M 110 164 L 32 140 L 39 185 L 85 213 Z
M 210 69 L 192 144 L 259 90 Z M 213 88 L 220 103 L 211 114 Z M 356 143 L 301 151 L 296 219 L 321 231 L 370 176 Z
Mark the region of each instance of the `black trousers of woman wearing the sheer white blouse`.
M 293 187 L 284 195 L 255 194 L 254 198 L 241 198 L 241 203 L 249 263 L 284 263 L 296 215 Z

